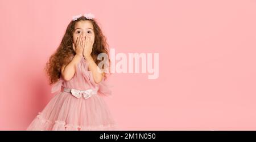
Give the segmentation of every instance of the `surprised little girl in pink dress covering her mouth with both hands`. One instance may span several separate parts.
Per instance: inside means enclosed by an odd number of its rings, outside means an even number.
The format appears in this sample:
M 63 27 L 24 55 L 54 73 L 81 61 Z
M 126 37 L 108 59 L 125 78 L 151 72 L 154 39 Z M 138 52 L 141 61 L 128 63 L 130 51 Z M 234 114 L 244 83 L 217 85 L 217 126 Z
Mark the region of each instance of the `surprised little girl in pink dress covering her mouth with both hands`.
M 117 130 L 103 98 L 111 91 L 97 59 L 100 53 L 109 55 L 107 46 L 94 15 L 73 17 L 46 66 L 52 93 L 60 92 L 27 130 Z

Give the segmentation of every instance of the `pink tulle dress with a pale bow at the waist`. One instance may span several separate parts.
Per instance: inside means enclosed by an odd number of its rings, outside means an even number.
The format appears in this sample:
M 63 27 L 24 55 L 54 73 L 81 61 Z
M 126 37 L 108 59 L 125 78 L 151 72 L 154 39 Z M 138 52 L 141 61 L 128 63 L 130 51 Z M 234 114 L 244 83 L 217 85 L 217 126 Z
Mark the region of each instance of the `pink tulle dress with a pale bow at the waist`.
M 107 81 L 96 84 L 88 62 L 82 57 L 69 81 L 60 78 L 52 86 L 55 96 L 38 113 L 27 130 L 117 130 L 104 96 L 111 91 Z

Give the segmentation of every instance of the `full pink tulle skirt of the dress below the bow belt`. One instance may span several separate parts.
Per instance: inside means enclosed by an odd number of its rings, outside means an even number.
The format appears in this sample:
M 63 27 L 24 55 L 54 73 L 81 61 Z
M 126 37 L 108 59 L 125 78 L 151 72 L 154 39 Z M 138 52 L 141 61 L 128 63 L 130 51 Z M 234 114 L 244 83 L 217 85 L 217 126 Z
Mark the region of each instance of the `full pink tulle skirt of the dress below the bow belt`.
M 102 96 L 96 94 L 85 99 L 60 92 L 27 130 L 117 130 L 117 124 Z

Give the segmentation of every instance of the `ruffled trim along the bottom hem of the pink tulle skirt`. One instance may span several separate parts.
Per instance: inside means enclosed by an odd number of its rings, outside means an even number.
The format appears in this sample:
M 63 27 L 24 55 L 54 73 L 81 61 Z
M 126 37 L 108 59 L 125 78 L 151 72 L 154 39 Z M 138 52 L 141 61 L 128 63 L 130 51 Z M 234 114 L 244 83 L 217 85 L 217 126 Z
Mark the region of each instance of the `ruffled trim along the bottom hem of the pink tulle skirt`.
M 52 122 L 47 119 L 44 119 L 41 114 L 42 113 L 38 113 L 38 115 L 36 116 L 36 119 L 33 122 L 34 126 L 30 126 L 31 128 L 29 127 L 27 130 L 89 131 L 89 130 L 116 130 L 117 129 L 117 124 L 85 127 L 85 126 L 67 124 L 64 121 L 59 121 L 59 120 Z M 32 123 L 32 125 L 33 125 L 33 123 Z

